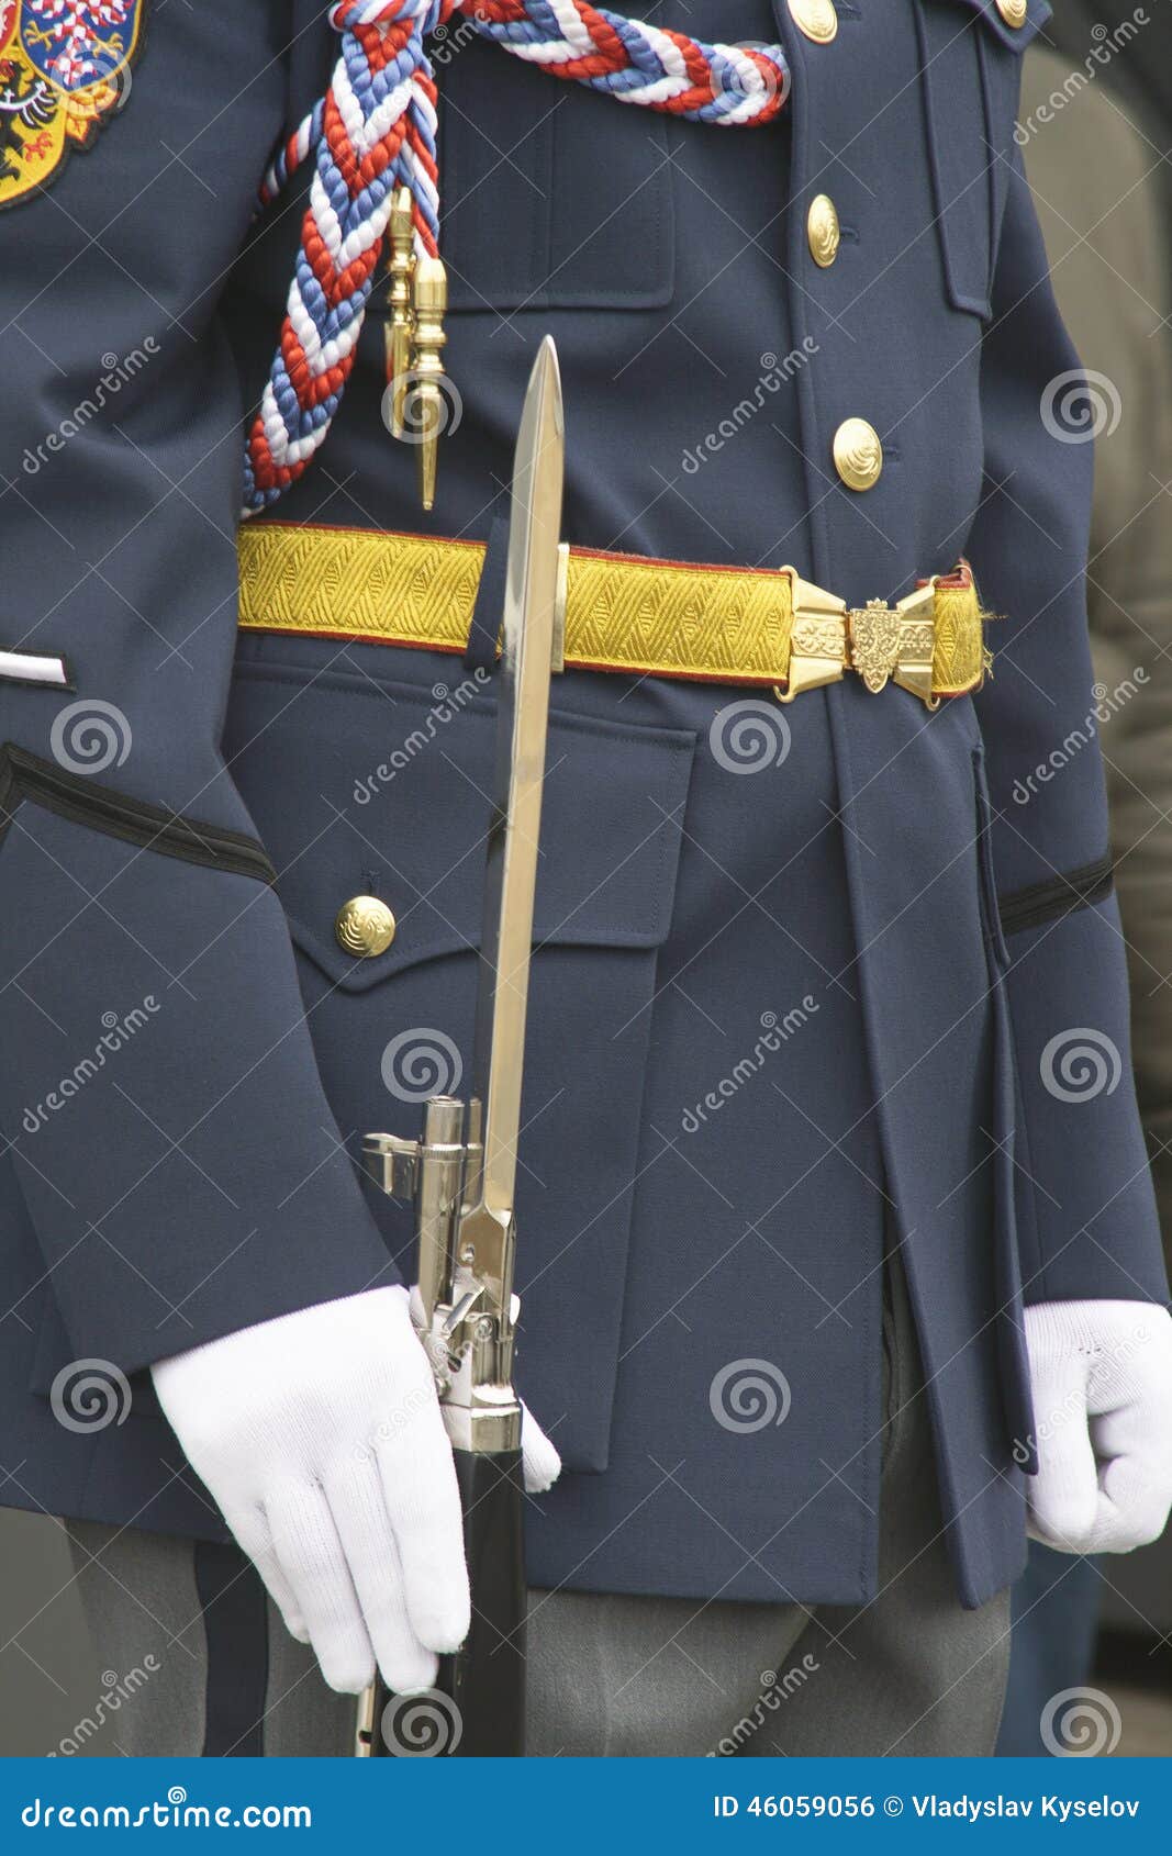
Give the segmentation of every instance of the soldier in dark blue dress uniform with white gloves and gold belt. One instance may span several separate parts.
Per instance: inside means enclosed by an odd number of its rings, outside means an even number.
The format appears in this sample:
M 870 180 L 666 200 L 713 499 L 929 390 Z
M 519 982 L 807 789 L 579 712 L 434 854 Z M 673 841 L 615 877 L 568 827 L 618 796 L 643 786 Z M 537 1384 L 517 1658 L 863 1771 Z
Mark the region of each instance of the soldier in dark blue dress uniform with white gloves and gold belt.
M 154 1659 L 119 1743 L 344 1754 L 466 1630 L 355 1158 L 470 1056 L 552 332 L 529 1750 L 990 1752 L 1027 1529 L 1172 1494 L 1046 0 L 58 11 L 0 6 L 0 1435 Z

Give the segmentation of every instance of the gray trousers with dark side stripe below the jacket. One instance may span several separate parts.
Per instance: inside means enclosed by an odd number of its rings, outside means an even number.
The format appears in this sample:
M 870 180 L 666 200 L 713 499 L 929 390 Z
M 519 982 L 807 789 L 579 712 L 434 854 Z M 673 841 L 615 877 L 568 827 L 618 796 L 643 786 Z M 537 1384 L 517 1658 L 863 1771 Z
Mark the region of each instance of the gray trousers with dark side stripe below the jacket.
M 957 1598 L 897 1270 L 888 1290 L 877 1596 L 804 1607 L 533 1592 L 531 1754 L 992 1754 L 1009 1594 L 977 1611 Z M 234 1548 L 69 1531 L 100 1667 L 132 1691 L 115 1726 L 124 1754 L 353 1752 L 355 1700 L 325 1687 Z

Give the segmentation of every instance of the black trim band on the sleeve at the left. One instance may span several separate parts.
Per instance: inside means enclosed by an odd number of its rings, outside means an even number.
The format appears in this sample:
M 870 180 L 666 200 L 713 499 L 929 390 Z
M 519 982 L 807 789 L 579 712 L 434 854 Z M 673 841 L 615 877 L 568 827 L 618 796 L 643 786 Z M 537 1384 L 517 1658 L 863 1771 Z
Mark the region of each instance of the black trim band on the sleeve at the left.
M 9 741 L 0 748 L 0 837 L 22 800 L 91 831 L 104 831 L 106 837 L 158 850 L 163 857 L 180 857 L 234 876 L 254 876 L 262 883 L 277 882 L 277 870 L 254 837 L 204 824 L 202 818 L 186 818 L 128 793 L 111 793 L 110 787 L 69 774 Z

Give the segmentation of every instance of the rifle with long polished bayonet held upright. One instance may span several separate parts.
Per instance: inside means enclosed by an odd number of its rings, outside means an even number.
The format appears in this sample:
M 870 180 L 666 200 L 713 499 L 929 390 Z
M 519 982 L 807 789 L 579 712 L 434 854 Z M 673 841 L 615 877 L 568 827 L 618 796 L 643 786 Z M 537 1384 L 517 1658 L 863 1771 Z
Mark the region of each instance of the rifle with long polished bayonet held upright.
M 375 1184 L 414 1199 L 422 1340 L 461 1485 L 472 1628 L 455 1656 L 440 1659 L 431 1695 L 392 1696 L 379 1680 L 366 1691 L 358 1706 L 360 1756 L 524 1754 L 514 1188 L 550 676 L 561 668 L 563 455 L 557 351 L 546 336 L 529 375 L 513 460 L 474 1091 L 466 1104 L 431 1097 L 420 1140 L 368 1134 L 362 1143 Z

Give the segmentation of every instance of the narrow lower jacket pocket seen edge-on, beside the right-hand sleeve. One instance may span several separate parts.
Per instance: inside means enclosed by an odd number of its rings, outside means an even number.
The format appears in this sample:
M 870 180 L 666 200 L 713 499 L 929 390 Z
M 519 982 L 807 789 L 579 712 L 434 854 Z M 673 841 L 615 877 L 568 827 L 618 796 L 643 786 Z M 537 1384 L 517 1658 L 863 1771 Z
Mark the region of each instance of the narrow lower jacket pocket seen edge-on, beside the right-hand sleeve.
M 994 1167 L 994 1245 L 997 1295 L 997 1359 L 1001 1364 L 1001 1398 L 1014 1463 L 1036 1472 L 1033 1394 L 1029 1388 L 1029 1355 L 1022 1314 L 1022 1260 L 1018 1255 L 1018 1076 L 1014 1063 L 1012 1025 L 1005 973 L 1009 948 L 1001 932 L 997 887 L 992 859 L 992 809 L 984 780 L 984 754 L 973 750 L 973 787 L 977 818 L 977 857 L 981 882 L 981 926 L 988 960 L 988 984 L 994 1038 L 994 1101 L 992 1101 L 992 1167 Z

